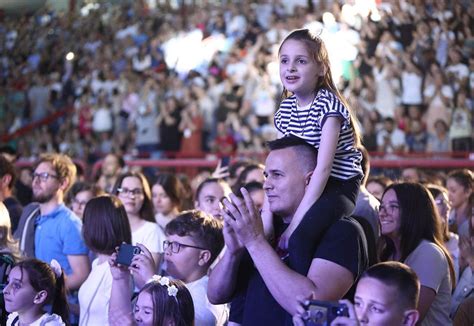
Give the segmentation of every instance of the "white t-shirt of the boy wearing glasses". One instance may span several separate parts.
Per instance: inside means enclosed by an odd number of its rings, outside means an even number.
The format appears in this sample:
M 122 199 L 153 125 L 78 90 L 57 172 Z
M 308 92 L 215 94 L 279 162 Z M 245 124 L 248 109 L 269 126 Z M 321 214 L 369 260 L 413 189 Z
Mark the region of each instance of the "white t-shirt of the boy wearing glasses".
M 207 283 L 209 277 L 205 275 L 186 287 L 191 293 L 194 303 L 195 326 L 221 326 L 228 319 L 229 311 L 227 305 L 213 305 L 207 298 Z

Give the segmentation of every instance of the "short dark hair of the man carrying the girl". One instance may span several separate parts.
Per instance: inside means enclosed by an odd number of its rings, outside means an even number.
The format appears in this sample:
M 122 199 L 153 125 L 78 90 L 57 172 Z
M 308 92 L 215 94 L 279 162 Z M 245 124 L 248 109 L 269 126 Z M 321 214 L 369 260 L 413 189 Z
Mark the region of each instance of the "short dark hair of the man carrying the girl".
M 313 171 L 316 167 L 316 159 L 318 151 L 316 148 L 308 144 L 304 139 L 295 135 L 288 135 L 282 138 L 271 140 L 267 142 L 270 151 L 279 149 L 292 148 L 298 155 L 298 162 L 304 169 L 304 172 Z

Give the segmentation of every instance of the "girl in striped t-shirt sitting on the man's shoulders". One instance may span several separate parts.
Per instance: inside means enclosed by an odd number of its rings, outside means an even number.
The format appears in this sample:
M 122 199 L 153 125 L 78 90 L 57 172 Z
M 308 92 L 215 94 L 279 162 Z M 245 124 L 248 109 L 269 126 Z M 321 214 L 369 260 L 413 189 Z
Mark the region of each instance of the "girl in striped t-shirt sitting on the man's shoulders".
M 275 113 L 279 137 L 293 134 L 318 150 L 314 177 L 280 239 L 290 265 L 306 274 L 318 239 L 355 207 L 362 154 L 355 117 L 332 79 L 321 38 L 308 29 L 293 31 L 280 46 L 279 60 L 283 95 L 292 94 Z

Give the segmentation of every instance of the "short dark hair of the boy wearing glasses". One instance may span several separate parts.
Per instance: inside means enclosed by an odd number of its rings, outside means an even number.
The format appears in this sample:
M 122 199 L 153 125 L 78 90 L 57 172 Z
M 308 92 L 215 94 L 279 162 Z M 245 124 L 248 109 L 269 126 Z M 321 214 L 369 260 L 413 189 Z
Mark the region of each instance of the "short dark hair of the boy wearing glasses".
M 222 222 L 200 210 L 190 210 L 179 214 L 166 225 L 165 233 L 193 238 L 198 246 L 211 252 L 209 265 L 224 248 Z

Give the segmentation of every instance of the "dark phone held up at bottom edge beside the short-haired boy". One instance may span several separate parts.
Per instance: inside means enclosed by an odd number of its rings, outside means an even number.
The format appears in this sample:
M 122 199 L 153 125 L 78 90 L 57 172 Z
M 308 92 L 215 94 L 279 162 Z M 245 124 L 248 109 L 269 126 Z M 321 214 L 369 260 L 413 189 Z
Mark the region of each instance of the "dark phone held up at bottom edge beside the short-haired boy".
M 308 300 L 305 310 L 303 319 L 307 326 L 329 326 L 339 316 L 349 317 L 347 306 L 334 301 Z

